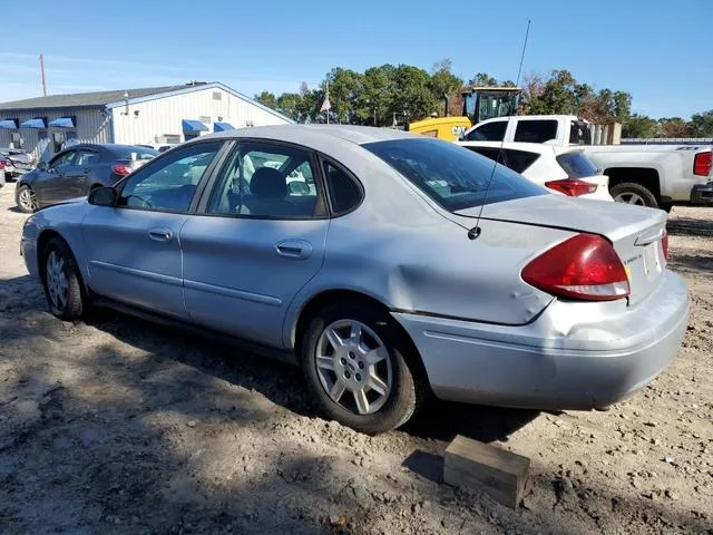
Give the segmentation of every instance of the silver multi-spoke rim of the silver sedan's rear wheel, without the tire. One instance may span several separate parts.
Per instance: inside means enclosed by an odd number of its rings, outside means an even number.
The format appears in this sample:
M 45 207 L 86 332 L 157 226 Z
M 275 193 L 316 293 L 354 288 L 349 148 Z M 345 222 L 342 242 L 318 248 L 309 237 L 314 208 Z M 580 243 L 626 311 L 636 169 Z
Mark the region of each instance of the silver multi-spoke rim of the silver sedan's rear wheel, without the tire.
M 393 386 L 389 351 L 365 324 L 340 320 L 328 325 L 314 358 L 322 388 L 342 408 L 371 415 L 389 399 Z

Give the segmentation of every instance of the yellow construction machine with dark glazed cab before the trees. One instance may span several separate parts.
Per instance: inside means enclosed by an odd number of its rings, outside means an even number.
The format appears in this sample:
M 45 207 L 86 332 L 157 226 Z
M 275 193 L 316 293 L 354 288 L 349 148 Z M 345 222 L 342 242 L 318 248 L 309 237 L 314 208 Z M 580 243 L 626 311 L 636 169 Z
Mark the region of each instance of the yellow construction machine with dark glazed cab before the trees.
M 445 117 L 417 120 L 410 123 L 407 129 L 416 134 L 452 142 L 481 120 L 516 115 L 521 94 L 522 89 L 519 87 L 472 87 L 462 93 L 461 116 L 449 116 L 448 98 L 446 98 Z

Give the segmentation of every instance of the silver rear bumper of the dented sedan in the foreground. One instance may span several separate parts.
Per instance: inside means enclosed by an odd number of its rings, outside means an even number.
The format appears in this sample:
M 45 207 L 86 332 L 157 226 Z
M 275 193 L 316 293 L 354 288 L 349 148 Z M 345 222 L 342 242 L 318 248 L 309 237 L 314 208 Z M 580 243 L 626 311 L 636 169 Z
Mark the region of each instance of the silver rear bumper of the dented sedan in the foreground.
M 636 307 L 623 300 L 556 300 L 526 325 L 393 317 L 411 335 L 441 399 L 538 409 L 606 407 L 648 385 L 678 352 L 688 296 L 677 275 L 664 276 Z

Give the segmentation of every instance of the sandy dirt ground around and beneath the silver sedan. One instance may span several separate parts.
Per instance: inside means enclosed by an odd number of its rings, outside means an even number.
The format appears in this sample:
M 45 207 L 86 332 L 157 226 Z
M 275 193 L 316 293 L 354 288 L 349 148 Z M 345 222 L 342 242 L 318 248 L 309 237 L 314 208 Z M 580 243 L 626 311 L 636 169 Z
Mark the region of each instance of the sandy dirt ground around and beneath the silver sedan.
M 713 208 L 675 207 L 678 358 L 608 411 L 434 402 L 367 437 L 301 374 L 113 312 L 64 323 L 0 189 L 0 533 L 713 533 Z M 441 481 L 457 434 L 531 458 L 517 510 Z

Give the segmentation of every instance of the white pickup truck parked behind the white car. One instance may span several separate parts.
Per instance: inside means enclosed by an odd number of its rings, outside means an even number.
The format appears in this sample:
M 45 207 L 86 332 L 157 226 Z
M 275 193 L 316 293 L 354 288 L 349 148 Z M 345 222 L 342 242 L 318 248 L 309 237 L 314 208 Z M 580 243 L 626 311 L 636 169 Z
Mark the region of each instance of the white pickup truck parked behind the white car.
M 713 204 L 710 145 L 592 145 L 589 124 L 573 115 L 484 120 L 461 140 L 579 145 L 609 177 L 615 201 L 671 210 L 672 203 Z

